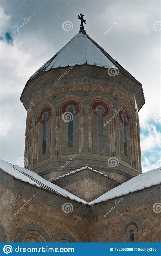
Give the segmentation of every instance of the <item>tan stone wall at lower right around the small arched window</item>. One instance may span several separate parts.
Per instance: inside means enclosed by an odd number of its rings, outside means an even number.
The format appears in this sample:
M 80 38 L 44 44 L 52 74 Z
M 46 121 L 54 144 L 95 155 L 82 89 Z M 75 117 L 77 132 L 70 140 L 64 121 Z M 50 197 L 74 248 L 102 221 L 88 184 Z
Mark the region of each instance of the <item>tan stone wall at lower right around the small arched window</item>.
M 128 242 L 122 228 L 126 221 L 138 219 L 137 241 L 160 242 L 161 216 L 153 211 L 153 205 L 157 202 L 158 199 L 93 218 L 89 227 L 91 230 L 85 239 L 90 242 Z

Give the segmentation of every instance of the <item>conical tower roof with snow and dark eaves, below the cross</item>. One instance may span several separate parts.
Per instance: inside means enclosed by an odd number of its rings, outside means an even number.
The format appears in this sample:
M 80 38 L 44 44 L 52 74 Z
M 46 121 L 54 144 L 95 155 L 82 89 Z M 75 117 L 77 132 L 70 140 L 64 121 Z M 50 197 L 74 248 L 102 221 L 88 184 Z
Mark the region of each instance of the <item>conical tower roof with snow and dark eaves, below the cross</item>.
M 41 68 L 38 69 L 28 80 L 22 91 L 20 100 L 24 95 L 25 89 L 29 82 L 37 79 L 50 70 L 65 68 L 70 66 L 97 66 L 105 69 L 116 69 L 128 79 L 131 79 L 140 86 L 135 98 L 138 103 L 138 109 L 144 105 L 145 99 L 141 83 L 138 82 L 126 69 L 124 69 L 115 59 L 113 59 L 104 49 L 97 44 L 92 38 L 81 29 L 58 53 L 48 60 Z M 119 73 L 117 72 L 117 73 Z M 127 79 L 127 80 L 128 80 Z

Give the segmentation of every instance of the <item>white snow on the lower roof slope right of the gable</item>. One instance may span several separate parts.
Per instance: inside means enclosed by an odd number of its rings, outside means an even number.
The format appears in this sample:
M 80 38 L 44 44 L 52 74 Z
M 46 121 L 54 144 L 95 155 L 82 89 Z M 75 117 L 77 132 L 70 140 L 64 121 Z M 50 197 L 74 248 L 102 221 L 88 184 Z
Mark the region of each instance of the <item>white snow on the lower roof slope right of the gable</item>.
M 121 185 L 109 190 L 88 204 L 93 205 L 95 203 L 107 201 L 108 199 L 124 196 L 137 190 L 158 185 L 159 183 L 161 183 L 161 167 L 133 177 L 129 181 L 126 181 Z

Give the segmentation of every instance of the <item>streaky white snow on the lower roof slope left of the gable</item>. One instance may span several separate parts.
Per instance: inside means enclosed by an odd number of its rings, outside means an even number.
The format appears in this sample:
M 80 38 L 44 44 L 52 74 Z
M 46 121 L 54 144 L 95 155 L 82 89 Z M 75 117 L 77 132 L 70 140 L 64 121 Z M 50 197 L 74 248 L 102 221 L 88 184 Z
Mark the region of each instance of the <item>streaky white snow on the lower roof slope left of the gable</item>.
M 37 173 L 35 173 L 33 171 L 30 171 L 30 170 L 20 167 L 18 165 L 12 165 L 11 163 L 7 163 L 6 161 L 3 161 L 3 160 L 0 160 L 0 169 L 2 169 L 4 172 L 10 174 L 11 176 L 15 177 L 18 180 L 28 182 L 32 185 L 39 187 L 39 188 L 47 189 L 47 190 L 57 193 L 59 195 L 68 197 L 72 200 L 76 200 L 77 202 L 87 204 L 87 202 L 84 201 L 83 199 L 81 199 L 81 198 L 73 195 L 72 193 L 66 191 L 65 189 L 51 183 L 50 181 L 43 179 L 40 175 L 38 175 Z

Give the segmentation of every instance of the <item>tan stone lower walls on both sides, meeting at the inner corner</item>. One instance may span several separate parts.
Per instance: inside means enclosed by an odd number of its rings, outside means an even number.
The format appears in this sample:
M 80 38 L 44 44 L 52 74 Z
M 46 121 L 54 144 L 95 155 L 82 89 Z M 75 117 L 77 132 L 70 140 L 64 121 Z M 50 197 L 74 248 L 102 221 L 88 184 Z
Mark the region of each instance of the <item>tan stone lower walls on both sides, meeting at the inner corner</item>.
M 136 222 L 138 242 L 159 242 L 159 214 L 153 211 L 158 200 L 87 219 L 2 187 L 0 191 L 0 225 L 6 242 L 127 242 L 126 222 Z

